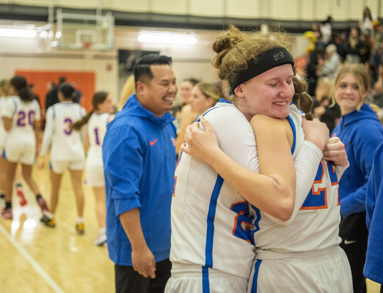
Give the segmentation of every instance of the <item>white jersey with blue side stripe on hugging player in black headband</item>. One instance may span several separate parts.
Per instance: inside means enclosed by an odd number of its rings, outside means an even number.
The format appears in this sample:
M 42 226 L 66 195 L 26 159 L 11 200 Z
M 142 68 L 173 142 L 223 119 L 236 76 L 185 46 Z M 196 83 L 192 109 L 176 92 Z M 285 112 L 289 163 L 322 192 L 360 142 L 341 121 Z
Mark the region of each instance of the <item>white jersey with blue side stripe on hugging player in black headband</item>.
M 254 131 L 245 116 L 233 104 L 221 102 L 204 117 L 215 130 L 221 150 L 255 171 Z M 255 247 L 249 237 L 252 217 L 246 200 L 211 166 L 185 153 L 180 155 L 174 178 L 170 260 L 201 265 L 202 272 L 214 268 L 249 278 Z

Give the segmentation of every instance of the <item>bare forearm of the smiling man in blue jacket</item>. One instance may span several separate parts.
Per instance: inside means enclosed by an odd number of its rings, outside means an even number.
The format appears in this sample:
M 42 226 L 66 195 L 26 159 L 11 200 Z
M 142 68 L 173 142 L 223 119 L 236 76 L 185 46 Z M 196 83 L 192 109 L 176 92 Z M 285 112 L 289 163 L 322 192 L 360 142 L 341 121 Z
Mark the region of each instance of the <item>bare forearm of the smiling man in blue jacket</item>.
M 144 233 L 141 228 L 139 208 L 133 208 L 119 215 L 121 225 L 130 241 L 132 249 L 146 247 Z

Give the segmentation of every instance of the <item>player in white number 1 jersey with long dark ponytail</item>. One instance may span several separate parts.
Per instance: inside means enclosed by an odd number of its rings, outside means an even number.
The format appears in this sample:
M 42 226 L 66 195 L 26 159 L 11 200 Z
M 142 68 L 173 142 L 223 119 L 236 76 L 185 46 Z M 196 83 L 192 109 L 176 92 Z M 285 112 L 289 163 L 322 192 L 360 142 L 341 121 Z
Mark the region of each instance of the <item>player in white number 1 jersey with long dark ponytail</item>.
M 98 236 L 94 243 L 101 246 L 106 242 L 102 143 L 106 132 L 106 124 L 114 118 L 114 115 L 110 114 L 114 111 L 114 105 L 110 94 L 102 91 L 93 95 L 92 105 L 93 109 L 81 120 L 75 122 L 71 128 L 79 131 L 84 124 L 87 124 L 86 144 L 89 145 L 89 150 L 85 162 L 85 182 L 88 186 L 93 187 L 95 194 Z

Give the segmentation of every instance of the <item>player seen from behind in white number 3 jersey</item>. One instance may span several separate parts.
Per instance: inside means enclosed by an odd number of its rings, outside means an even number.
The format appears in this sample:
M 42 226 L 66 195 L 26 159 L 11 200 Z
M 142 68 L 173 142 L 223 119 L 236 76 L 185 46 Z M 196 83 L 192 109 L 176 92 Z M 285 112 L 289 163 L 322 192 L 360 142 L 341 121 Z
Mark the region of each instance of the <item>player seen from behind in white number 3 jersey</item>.
M 46 155 L 51 146 L 51 213 L 44 218 L 47 226 L 55 226 L 55 211 L 59 197 L 62 173 L 69 169 L 72 187 L 77 203 L 76 231 L 84 233 L 83 204 L 81 180 L 85 163 L 85 152 L 80 132 L 72 130 L 70 125 L 85 115 L 85 109 L 72 102 L 74 88 L 68 83 L 62 83 L 58 91 L 59 103 L 46 111 L 46 124 L 41 146 L 41 156 Z M 40 167 L 43 166 L 43 161 Z

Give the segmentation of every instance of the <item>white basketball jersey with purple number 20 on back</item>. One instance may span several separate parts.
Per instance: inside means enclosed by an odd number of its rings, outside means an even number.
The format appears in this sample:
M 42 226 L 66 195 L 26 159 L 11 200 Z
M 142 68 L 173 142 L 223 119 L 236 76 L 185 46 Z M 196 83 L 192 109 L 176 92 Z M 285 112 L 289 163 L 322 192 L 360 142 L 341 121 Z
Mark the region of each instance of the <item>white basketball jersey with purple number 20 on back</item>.
M 41 119 L 40 106 L 36 100 L 22 101 L 19 96 L 2 99 L 1 116 L 12 119 L 7 140 L 17 143 L 35 143 L 34 121 Z

